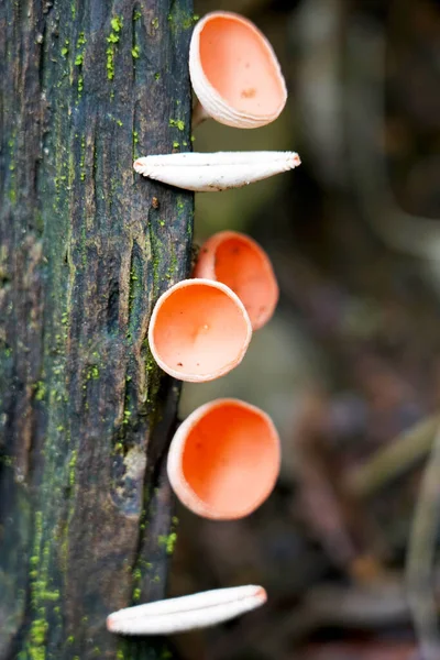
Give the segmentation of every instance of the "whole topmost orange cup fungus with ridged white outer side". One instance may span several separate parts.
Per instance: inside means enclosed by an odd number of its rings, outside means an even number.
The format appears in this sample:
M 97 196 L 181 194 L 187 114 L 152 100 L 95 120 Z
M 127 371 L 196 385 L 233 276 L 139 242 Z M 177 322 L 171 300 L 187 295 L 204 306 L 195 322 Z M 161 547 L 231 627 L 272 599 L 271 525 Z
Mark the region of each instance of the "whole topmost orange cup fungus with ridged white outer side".
M 240 129 L 274 121 L 287 100 L 277 57 L 262 32 L 237 13 L 215 11 L 199 21 L 189 48 L 189 73 L 206 117 Z

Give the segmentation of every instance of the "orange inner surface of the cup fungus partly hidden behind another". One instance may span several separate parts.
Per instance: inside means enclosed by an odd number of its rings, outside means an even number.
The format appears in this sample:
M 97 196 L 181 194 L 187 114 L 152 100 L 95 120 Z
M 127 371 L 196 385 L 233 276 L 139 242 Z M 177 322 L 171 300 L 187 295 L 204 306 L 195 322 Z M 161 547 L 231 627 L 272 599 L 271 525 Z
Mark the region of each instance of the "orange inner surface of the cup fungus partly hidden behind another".
M 277 288 L 264 256 L 239 238 L 222 241 L 216 250 L 216 278 L 229 286 L 243 302 L 252 324 L 273 309 Z

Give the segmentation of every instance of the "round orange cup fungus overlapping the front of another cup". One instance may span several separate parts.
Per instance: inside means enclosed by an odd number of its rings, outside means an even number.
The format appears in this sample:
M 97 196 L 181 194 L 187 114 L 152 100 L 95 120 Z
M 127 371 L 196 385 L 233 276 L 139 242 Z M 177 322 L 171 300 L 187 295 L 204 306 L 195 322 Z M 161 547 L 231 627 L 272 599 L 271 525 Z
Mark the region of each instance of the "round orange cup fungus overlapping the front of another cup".
M 157 300 L 150 349 L 170 376 L 190 383 L 218 378 L 242 361 L 252 326 L 240 298 L 224 284 L 184 279 Z

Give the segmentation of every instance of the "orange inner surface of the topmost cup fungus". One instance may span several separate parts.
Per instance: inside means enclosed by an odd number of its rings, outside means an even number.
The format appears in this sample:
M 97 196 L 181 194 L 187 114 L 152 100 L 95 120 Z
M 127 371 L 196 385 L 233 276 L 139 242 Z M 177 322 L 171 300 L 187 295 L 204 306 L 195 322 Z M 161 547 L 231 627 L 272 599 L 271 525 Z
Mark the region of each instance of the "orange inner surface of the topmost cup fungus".
M 246 24 L 226 16 L 208 21 L 200 33 L 200 59 L 209 82 L 235 110 L 264 117 L 284 103 L 273 57 Z

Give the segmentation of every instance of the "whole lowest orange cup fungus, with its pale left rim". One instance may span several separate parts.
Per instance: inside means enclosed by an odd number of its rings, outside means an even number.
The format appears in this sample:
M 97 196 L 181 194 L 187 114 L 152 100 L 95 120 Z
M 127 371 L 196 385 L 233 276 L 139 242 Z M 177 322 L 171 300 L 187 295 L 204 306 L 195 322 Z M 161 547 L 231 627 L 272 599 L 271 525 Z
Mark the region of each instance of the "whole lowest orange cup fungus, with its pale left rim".
M 200 406 L 180 425 L 167 470 L 187 508 L 205 518 L 233 520 L 268 497 L 279 463 L 279 438 L 268 415 L 226 398 Z

